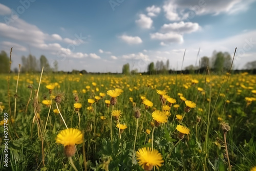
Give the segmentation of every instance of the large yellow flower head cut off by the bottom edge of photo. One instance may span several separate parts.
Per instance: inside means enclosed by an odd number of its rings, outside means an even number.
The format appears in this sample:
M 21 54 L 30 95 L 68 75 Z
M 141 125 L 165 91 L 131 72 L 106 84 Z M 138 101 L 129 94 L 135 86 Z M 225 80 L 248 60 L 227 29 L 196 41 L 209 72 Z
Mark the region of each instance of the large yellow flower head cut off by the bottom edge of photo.
M 159 168 L 163 163 L 162 155 L 156 149 L 149 147 L 140 148 L 136 152 L 136 157 L 139 165 L 141 165 L 144 170 L 152 170 L 154 166 Z

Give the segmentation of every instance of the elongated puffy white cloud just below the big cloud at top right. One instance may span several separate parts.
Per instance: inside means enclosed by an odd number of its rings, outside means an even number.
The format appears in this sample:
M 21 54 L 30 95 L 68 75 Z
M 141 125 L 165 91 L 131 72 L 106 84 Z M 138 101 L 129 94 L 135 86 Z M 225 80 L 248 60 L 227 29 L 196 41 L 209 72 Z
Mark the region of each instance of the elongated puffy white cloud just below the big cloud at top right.
M 161 27 L 161 32 L 163 33 L 176 32 L 176 33 L 184 34 L 184 33 L 195 32 L 195 31 L 198 31 L 199 29 L 200 29 L 200 26 L 198 23 L 180 22 L 180 23 L 164 24 Z

